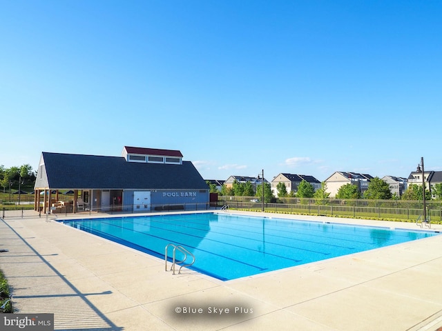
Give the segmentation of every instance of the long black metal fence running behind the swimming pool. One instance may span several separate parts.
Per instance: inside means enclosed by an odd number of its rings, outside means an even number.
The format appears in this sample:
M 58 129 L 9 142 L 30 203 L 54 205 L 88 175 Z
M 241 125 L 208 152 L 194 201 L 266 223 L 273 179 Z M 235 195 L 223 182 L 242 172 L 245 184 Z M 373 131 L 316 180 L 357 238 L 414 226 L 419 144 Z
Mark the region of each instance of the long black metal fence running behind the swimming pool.
M 258 201 L 258 202 L 256 202 Z M 140 209 L 140 205 L 111 205 L 107 208 L 84 208 L 73 210 L 68 208 L 50 208 L 48 214 L 42 210 L 35 211 L 33 206 L 11 205 L 3 206 L 0 217 L 77 217 L 93 214 L 135 214 L 154 212 L 180 212 L 182 210 L 218 209 L 222 205 L 238 210 L 258 211 L 262 202 L 256 197 L 220 197 L 218 203 L 185 203 L 158 204 L 150 208 Z M 442 223 L 442 201 L 427 201 L 427 215 L 432 223 Z M 300 199 L 285 198 L 278 203 L 264 204 L 267 212 L 292 214 L 311 214 L 321 216 L 354 217 L 361 219 L 394 219 L 401 221 L 416 221 L 423 214 L 422 201 L 367 200 L 367 199 Z

